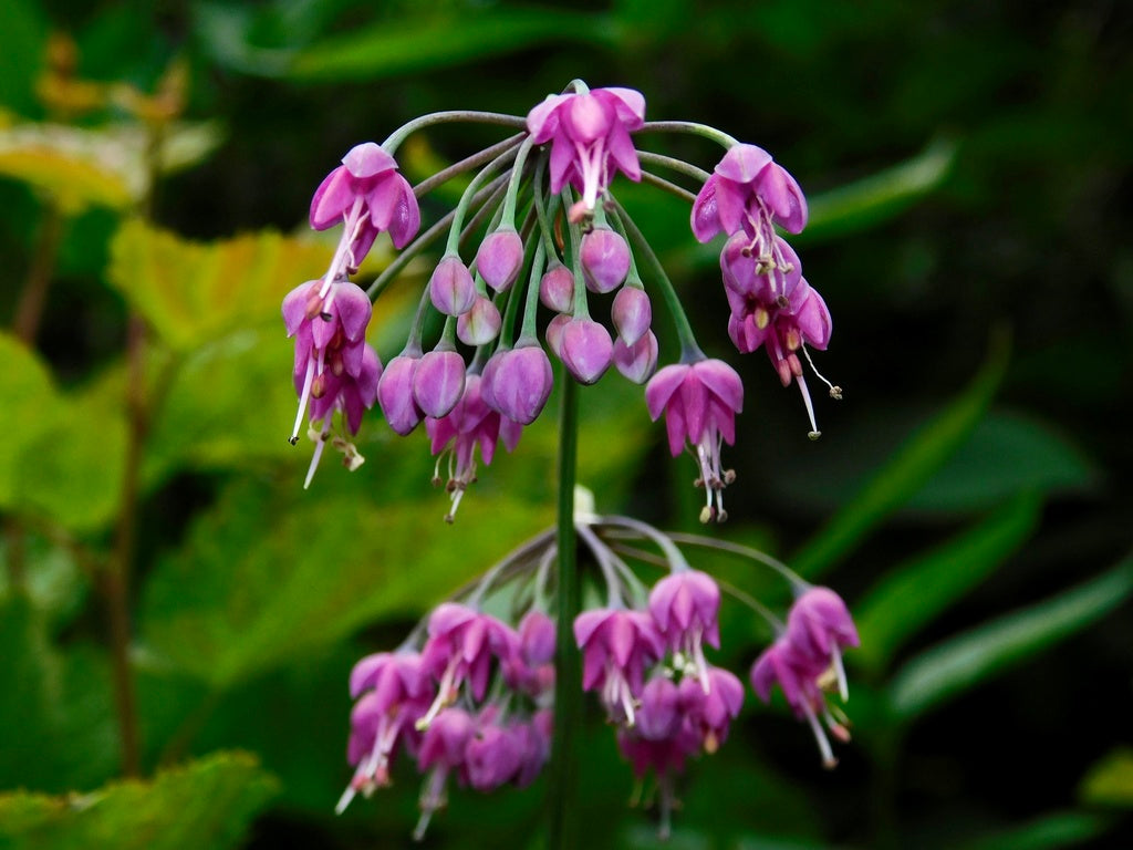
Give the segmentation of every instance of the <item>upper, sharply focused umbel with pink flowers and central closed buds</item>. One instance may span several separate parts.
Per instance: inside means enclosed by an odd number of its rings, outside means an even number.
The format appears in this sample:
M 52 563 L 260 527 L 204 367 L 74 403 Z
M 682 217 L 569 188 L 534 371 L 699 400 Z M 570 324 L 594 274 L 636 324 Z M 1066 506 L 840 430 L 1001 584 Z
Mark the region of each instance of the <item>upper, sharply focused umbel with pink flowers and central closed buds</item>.
M 454 121 L 514 133 L 410 186 L 394 159 L 401 143 Z M 673 133 L 717 142 L 723 158 L 709 173 L 638 147 Z M 466 172 L 474 175 L 455 209 L 420 232 L 418 201 Z M 446 481 L 451 495 L 451 521 L 478 464 L 491 464 L 500 442 L 514 449 L 543 411 L 553 383 L 550 352 L 583 384 L 611 366 L 646 384 L 649 415 L 664 416 L 673 456 L 689 450 L 696 459 L 702 521 L 724 520 L 723 491 L 735 475 L 723 447 L 735 440 L 743 385 L 731 366 L 701 351 L 653 248 L 617 201 L 619 179 L 687 201 L 700 241 L 725 237 L 721 270 L 731 315 L 722 326 L 740 352 L 764 349 L 783 384 L 799 386 L 808 433 L 817 437 L 803 362 L 810 364 L 809 349 L 827 347 L 830 316 L 783 237 L 807 223 L 794 178 L 763 148 L 712 127 L 646 121 L 637 91 L 589 90 L 576 80 L 526 117 L 458 111 L 410 121 L 381 145 L 353 147 L 316 190 L 310 226 L 341 226 L 339 245 L 326 273 L 283 301 L 299 396 L 290 439 L 298 441 L 306 422 L 315 442 L 307 484 L 327 442 L 349 468 L 363 462 L 352 437 L 376 402 L 398 434 L 424 423 L 437 481 Z M 382 232 L 401 253 L 363 290 L 350 277 Z M 366 342 L 372 301 L 426 252 L 435 265 L 408 339 L 383 367 Z M 612 299 L 596 298 L 605 294 Z M 680 347 L 659 372 L 668 356 L 662 359 L 653 331 L 658 300 Z M 540 305 L 550 318 L 540 318 Z M 829 391 L 841 397 L 840 388 Z

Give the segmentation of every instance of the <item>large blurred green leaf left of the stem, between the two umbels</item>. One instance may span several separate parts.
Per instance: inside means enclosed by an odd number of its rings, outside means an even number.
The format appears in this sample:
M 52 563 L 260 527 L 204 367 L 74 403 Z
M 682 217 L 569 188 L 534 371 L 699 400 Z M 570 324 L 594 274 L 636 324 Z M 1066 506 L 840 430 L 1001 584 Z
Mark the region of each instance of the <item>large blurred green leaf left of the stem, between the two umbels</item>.
M 458 532 L 440 505 L 378 505 L 350 487 L 316 499 L 298 481 L 235 486 L 146 587 L 145 656 L 222 690 L 383 614 L 424 613 L 550 524 L 548 510 L 479 495 L 461 504 Z

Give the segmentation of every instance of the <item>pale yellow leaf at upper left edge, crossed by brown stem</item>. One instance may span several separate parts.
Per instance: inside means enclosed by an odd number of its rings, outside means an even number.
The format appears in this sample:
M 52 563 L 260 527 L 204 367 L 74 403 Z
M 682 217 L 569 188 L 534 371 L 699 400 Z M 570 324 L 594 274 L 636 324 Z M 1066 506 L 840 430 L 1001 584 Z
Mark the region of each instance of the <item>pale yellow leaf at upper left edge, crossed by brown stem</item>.
M 202 161 L 221 135 L 214 122 L 173 125 L 162 143 L 161 170 Z M 88 206 L 125 210 L 148 192 L 148 145 L 146 131 L 131 125 L 19 124 L 0 128 L 0 175 L 45 192 L 69 214 Z

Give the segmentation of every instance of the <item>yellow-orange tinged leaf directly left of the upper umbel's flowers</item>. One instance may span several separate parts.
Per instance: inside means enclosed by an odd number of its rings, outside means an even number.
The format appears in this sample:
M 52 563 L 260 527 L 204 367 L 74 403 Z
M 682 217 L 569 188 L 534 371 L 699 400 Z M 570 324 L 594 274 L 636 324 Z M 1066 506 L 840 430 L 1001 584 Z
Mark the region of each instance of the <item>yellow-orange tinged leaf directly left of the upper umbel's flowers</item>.
M 114 237 L 108 278 L 163 342 L 189 351 L 278 315 L 283 296 L 329 260 L 318 243 L 279 233 L 193 243 L 134 220 Z

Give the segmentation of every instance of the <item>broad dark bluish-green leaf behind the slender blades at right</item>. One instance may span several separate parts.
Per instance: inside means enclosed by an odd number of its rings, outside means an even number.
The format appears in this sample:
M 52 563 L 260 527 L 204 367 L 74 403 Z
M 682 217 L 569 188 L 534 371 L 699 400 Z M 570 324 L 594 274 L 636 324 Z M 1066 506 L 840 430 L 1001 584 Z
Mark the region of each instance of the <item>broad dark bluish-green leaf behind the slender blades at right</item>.
M 1029 417 L 997 411 L 976 426 L 971 439 L 904 508 L 989 509 L 1023 490 L 1080 491 L 1096 478 L 1082 452 L 1054 431 Z

